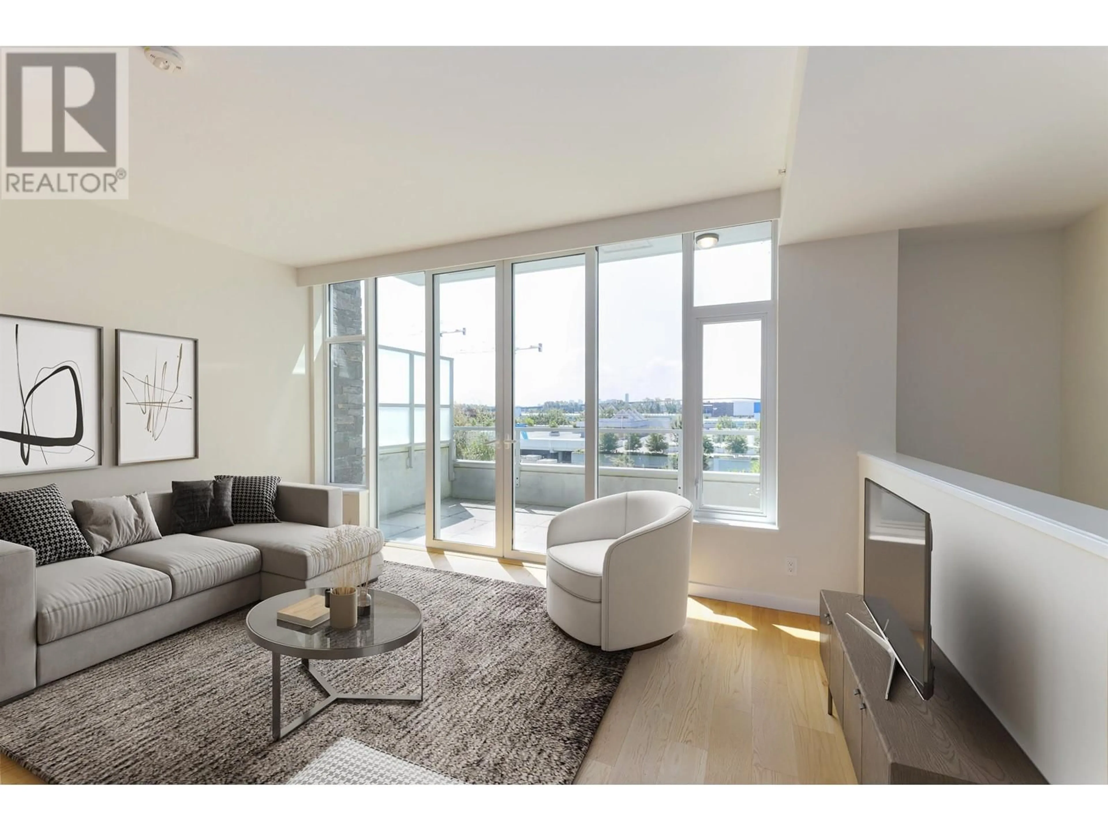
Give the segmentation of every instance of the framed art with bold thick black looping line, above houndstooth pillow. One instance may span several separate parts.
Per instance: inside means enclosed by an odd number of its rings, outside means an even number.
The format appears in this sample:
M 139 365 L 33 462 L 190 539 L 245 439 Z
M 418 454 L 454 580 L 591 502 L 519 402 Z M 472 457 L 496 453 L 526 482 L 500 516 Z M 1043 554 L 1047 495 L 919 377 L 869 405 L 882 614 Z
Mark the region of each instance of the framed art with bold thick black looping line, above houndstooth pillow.
M 0 475 L 101 461 L 99 326 L 0 315 Z

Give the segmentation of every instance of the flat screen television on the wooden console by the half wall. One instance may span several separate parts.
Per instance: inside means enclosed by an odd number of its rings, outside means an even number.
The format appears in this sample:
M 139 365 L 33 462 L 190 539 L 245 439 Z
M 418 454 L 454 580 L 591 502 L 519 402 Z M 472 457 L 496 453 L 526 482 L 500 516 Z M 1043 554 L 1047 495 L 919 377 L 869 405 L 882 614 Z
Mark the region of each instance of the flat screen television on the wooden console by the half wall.
M 865 607 L 912 685 L 931 698 L 931 514 L 869 479 L 863 562 Z

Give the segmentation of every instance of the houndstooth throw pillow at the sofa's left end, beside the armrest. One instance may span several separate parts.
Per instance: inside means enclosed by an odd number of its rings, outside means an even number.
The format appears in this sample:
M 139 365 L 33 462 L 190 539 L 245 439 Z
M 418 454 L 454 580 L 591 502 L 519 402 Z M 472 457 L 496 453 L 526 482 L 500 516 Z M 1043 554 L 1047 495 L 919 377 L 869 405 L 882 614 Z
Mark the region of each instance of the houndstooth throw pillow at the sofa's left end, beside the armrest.
M 0 540 L 34 548 L 34 564 L 91 557 L 58 485 L 0 493 Z

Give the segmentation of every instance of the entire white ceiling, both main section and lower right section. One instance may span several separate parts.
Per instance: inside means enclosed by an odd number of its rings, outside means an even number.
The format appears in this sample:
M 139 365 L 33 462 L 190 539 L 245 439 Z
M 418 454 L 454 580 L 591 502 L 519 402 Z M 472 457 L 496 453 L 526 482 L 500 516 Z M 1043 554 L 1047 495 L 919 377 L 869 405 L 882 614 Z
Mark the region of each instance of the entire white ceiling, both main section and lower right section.
M 131 198 L 101 204 L 296 266 L 782 178 L 782 243 L 1108 202 L 1106 48 L 182 51 L 132 51 Z

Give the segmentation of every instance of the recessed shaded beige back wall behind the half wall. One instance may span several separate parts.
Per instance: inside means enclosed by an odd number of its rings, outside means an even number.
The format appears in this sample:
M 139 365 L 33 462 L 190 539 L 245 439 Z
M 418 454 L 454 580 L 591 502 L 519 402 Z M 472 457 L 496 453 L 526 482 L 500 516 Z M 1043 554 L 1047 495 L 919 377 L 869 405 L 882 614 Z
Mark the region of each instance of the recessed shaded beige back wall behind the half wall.
M 896 445 L 1058 493 L 1061 233 L 901 234 Z

